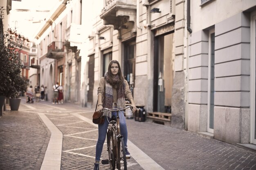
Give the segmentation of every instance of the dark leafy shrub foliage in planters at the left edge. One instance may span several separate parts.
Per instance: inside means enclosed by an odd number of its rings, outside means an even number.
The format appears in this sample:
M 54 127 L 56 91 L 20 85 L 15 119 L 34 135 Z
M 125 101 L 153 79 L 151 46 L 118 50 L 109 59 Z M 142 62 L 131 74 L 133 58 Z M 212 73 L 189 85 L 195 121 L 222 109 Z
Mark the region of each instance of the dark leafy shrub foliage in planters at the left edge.
M 3 10 L 3 7 L 0 7 L 0 99 L 18 98 L 20 92 L 26 91 L 27 82 L 20 76 L 20 70 L 23 67 L 19 57 L 20 46 L 14 43 L 9 31 L 7 33 L 3 31 Z M 1 104 L 0 101 L 2 111 Z

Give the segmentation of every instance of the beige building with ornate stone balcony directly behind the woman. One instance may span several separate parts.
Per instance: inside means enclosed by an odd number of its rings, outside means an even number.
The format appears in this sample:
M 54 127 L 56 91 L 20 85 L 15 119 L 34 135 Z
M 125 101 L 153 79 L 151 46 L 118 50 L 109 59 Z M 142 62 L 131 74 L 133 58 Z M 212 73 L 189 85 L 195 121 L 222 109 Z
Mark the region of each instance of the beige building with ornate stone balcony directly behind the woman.
M 136 104 L 163 123 L 172 113 L 173 126 L 184 128 L 184 8 L 183 1 L 105 0 L 89 35 L 88 102 L 96 104 L 99 79 L 118 60 Z

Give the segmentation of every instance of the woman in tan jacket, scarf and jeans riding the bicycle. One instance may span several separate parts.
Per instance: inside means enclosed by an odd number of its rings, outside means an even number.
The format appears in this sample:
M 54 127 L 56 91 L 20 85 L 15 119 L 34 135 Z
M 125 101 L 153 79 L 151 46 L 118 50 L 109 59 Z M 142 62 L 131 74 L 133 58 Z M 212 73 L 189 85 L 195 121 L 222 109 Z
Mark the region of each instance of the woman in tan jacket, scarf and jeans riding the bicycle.
M 104 77 L 101 77 L 98 88 L 98 105 L 97 110 L 102 111 L 102 108 L 124 108 L 125 107 L 125 97 L 129 99 L 132 106 L 132 113 L 136 111 L 135 102 L 132 98 L 132 93 L 129 89 L 128 82 L 124 79 L 120 64 L 117 60 L 112 60 L 108 65 L 108 72 L 105 73 Z M 96 157 L 94 163 L 94 170 L 99 170 L 99 161 L 101 158 L 101 152 L 103 149 L 103 144 L 106 139 L 108 120 L 107 117 L 117 116 L 117 112 L 112 112 L 112 115 L 107 115 L 104 112 L 105 121 L 104 124 L 99 124 L 99 137 L 96 145 Z M 130 153 L 127 150 L 127 127 L 126 119 L 124 117 L 124 111 L 119 113 L 120 117 L 120 129 L 121 135 L 124 137 L 124 146 L 126 148 L 126 157 L 130 157 Z

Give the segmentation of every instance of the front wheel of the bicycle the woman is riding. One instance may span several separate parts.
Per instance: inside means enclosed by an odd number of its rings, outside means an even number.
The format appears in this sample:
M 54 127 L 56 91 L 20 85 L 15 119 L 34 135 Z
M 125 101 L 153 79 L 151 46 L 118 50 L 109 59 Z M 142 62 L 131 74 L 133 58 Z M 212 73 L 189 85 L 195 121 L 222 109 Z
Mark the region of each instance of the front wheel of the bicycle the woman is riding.
M 117 169 L 127 170 L 126 152 L 124 147 L 124 139 L 120 137 L 117 142 Z

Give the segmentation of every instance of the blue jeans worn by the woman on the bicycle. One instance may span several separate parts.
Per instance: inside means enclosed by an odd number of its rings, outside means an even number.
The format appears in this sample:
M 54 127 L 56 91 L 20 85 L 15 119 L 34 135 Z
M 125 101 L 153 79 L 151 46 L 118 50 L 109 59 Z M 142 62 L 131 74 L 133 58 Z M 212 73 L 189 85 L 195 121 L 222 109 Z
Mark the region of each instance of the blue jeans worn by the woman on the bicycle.
M 112 112 L 112 116 L 115 116 L 117 118 L 117 112 Z M 124 137 L 124 146 L 127 147 L 128 132 L 127 132 L 126 120 L 125 120 L 123 111 L 119 112 L 119 118 L 120 118 L 121 135 L 123 135 L 123 137 Z M 107 130 L 108 130 L 107 117 L 104 117 L 104 119 L 105 119 L 104 124 L 98 125 L 99 137 L 98 137 L 98 141 L 97 141 L 97 145 L 96 145 L 96 157 L 95 157 L 96 161 L 100 161 L 103 144 L 105 142 Z M 110 121 L 110 119 L 109 119 L 109 121 Z

